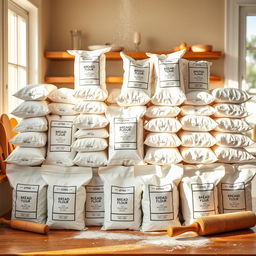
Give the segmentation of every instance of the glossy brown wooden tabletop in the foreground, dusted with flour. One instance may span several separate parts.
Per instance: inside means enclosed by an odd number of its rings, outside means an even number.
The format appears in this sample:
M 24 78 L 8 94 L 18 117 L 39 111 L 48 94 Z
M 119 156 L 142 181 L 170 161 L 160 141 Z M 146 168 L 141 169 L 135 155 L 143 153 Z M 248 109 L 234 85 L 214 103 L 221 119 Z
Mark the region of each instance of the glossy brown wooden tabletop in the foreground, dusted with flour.
M 89 230 L 93 231 L 93 234 L 99 234 L 99 229 L 90 228 Z M 50 231 L 48 236 L 44 236 L 1 226 L 0 255 L 256 255 L 256 227 L 209 236 L 206 238 L 207 244 L 198 247 L 159 246 L 141 243 L 145 236 L 153 237 L 153 239 L 157 236 L 159 239 L 160 233 L 145 234 L 131 231 L 103 233 L 106 237 L 113 233 L 118 233 L 120 238 L 127 233 L 142 236 L 142 239 L 132 240 L 74 238 L 74 236 L 84 234 L 84 232 L 87 231 Z M 102 232 L 100 233 L 102 234 Z M 191 239 L 198 239 L 198 237 L 190 233 L 189 237 L 186 235 L 179 239 L 187 242 Z M 199 239 L 202 238 L 199 237 Z

